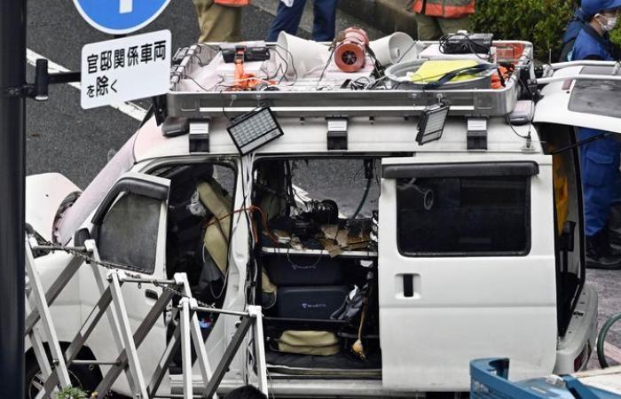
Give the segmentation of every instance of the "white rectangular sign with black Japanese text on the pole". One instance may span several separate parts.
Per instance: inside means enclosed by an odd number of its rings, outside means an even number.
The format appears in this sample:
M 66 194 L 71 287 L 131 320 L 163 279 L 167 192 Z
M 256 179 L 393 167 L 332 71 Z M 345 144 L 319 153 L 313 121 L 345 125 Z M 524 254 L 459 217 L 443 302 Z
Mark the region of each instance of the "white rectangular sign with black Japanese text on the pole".
M 86 44 L 82 49 L 84 109 L 158 96 L 170 86 L 170 31 Z

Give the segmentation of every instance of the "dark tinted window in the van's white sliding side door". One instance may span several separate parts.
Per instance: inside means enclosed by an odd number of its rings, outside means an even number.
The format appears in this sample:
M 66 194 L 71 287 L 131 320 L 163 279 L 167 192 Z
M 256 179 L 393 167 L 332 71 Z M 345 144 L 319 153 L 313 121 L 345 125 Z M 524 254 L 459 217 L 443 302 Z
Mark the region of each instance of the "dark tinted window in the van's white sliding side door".
M 397 244 L 406 256 L 525 255 L 531 176 L 397 178 Z

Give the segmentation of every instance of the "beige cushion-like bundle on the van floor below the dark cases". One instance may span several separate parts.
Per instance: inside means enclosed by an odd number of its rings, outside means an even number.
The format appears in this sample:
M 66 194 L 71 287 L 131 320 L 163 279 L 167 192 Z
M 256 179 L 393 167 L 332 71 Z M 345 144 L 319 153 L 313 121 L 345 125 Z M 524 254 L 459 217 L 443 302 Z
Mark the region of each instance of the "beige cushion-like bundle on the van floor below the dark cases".
M 280 352 L 299 355 L 333 356 L 341 350 L 338 337 L 326 331 L 289 330 L 282 333 L 278 343 Z

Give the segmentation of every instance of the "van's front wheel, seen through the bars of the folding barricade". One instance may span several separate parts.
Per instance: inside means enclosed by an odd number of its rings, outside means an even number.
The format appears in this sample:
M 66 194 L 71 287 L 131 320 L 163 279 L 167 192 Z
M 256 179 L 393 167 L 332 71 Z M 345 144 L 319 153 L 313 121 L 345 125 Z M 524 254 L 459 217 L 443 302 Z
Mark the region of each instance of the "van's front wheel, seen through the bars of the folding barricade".
M 101 372 L 98 367 L 94 367 L 90 370 L 88 365 L 75 365 L 69 367 L 69 379 L 71 380 L 72 387 L 79 387 L 83 391 L 92 392 L 98 386 L 101 381 Z M 36 395 L 43 388 L 43 373 L 39 364 L 36 363 L 34 356 L 27 359 L 26 372 L 25 372 L 25 387 L 24 397 L 26 399 L 35 399 Z

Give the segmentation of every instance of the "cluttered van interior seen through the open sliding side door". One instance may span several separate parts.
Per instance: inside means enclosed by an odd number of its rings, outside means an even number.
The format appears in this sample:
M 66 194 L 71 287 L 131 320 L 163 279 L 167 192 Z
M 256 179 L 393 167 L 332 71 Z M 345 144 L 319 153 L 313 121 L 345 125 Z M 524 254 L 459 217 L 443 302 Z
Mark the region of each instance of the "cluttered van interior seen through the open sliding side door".
M 381 375 L 379 168 L 373 158 L 256 162 L 256 298 L 271 372 Z

